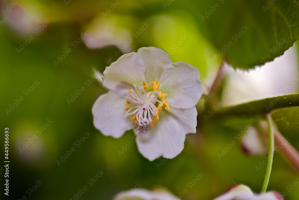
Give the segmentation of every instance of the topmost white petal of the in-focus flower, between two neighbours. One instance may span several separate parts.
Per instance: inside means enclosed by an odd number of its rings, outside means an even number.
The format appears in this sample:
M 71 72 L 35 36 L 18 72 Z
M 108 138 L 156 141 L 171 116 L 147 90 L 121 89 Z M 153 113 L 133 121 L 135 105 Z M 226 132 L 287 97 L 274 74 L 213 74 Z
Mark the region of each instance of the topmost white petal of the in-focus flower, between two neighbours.
M 156 47 L 142 47 L 138 49 L 137 53 L 141 56 L 144 61 L 146 68 L 146 82 L 148 84 L 160 79 L 161 74 L 172 62 L 169 54 L 164 50 Z

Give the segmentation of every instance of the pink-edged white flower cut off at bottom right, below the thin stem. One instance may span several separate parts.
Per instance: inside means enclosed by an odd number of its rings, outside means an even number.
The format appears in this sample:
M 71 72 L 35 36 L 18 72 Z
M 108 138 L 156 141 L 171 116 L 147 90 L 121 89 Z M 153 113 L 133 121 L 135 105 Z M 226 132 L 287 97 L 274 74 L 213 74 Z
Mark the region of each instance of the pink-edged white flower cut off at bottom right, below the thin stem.
M 270 191 L 263 194 L 255 194 L 246 185 L 234 185 L 224 194 L 213 200 L 283 200 L 283 196 L 276 191 Z

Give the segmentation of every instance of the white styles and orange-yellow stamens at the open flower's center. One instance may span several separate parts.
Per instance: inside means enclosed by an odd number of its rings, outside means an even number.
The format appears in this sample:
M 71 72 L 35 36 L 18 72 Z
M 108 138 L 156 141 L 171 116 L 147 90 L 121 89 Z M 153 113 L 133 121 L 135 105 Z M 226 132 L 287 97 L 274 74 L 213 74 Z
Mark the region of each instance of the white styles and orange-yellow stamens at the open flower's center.
M 135 89 L 131 88 L 129 92 L 126 93 L 125 105 L 132 103 L 134 106 L 126 108 L 127 112 L 123 117 L 126 118 L 128 115 L 132 115 L 130 121 L 135 120 L 139 126 L 147 126 L 148 124 L 154 126 L 155 120 L 159 119 L 162 106 L 165 105 L 165 109 L 169 110 L 167 98 L 165 97 L 167 94 L 158 90 L 160 87 L 158 79 L 150 84 L 153 88 L 151 92 L 146 92 L 146 84 L 145 81 L 143 81 L 141 87 L 137 87 L 136 84 L 134 84 Z M 165 98 L 162 101 L 158 100 L 158 98 L 163 97 Z M 157 102 L 158 106 L 156 107 L 155 104 Z

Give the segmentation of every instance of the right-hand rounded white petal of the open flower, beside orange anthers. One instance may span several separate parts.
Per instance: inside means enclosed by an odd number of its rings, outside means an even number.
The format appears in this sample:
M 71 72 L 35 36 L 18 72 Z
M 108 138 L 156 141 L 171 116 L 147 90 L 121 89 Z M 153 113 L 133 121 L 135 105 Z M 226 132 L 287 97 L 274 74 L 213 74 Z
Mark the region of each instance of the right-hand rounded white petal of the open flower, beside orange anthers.
M 159 83 L 159 90 L 167 94 L 169 105 L 175 108 L 192 108 L 202 96 L 203 86 L 199 80 L 199 71 L 185 62 L 168 65 Z

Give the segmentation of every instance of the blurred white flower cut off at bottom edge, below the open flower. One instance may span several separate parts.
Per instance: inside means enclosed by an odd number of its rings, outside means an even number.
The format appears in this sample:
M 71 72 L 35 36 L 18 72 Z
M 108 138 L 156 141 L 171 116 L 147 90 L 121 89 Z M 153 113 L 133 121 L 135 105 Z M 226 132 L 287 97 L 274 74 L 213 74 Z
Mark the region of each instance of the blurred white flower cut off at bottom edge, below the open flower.
M 176 197 L 164 189 L 158 188 L 153 191 L 137 188 L 123 191 L 115 195 L 113 200 L 173 200 Z

